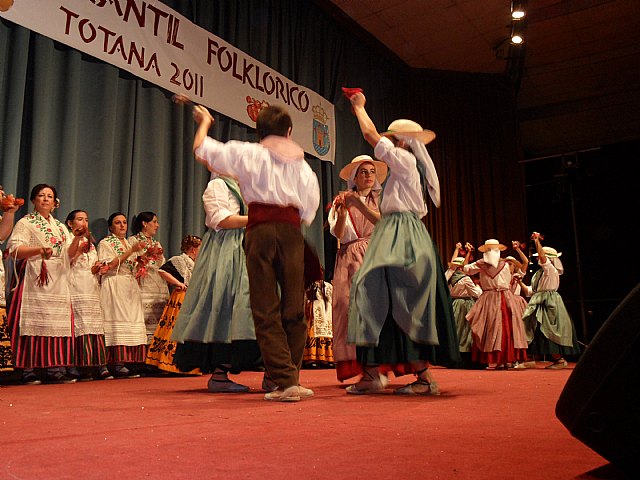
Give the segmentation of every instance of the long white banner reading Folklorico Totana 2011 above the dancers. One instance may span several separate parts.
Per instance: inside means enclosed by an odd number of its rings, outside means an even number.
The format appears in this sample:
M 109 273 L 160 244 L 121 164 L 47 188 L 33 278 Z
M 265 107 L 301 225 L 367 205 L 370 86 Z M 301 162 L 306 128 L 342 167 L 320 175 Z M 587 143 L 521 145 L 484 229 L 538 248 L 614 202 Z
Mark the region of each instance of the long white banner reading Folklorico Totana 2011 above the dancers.
M 284 106 L 293 139 L 334 162 L 334 106 L 156 0 L 0 0 L 0 16 L 255 127 Z

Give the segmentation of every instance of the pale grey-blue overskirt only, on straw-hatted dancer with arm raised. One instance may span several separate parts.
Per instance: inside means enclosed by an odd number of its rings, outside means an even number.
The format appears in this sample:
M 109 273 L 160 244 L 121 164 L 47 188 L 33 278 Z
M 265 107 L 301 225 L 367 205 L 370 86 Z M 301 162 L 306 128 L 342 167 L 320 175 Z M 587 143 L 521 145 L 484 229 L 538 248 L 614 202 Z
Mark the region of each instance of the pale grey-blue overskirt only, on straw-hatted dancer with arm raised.
M 412 341 L 438 345 L 438 262 L 431 237 L 415 214 L 383 216 L 353 278 L 348 341 L 377 346 L 389 313 Z

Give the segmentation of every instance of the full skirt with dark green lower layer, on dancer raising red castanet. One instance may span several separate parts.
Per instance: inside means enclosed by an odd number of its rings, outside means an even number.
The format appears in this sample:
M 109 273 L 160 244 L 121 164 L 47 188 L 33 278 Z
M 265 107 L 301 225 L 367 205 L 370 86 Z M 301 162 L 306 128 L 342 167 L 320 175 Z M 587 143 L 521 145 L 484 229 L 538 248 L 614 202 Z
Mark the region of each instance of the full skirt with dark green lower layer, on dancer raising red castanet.
M 348 341 L 361 363 L 460 364 L 442 260 L 410 212 L 383 216 L 351 287 Z

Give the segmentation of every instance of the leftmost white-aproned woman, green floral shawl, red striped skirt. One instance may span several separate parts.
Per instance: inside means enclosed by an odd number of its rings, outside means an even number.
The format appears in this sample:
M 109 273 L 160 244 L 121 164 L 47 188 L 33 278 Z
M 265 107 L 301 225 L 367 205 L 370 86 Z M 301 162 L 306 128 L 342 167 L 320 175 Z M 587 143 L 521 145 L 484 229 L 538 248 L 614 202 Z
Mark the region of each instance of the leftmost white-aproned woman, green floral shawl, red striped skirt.
M 54 186 L 36 185 L 29 199 L 34 211 L 16 223 L 8 244 L 18 272 L 8 317 L 15 366 L 24 369 L 26 384 L 40 383 L 36 368 L 46 370 L 46 382 L 72 383 L 66 373 L 75 364 L 69 270 L 84 229 L 73 236 L 54 218 Z

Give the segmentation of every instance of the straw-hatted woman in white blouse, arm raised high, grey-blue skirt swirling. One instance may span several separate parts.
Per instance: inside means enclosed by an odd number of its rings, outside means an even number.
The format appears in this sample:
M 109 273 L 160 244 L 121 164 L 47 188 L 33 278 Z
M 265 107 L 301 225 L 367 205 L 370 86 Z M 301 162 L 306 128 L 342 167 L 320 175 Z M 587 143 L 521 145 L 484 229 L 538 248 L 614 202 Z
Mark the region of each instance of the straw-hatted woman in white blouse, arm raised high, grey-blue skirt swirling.
M 381 135 L 362 92 L 349 97 L 365 140 L 387 164 L 389 176 L 381 219 L 351 286 L 347 340 L 356 344 L 357 360 L 367 368 L 347 393 L 383 390 L 388 379 L 382 367 L 389 366 L 397 376 L 417 376 L 395 393 L 438 394 L 429 364 L 454 365 L 460 354 L 444 269 L 422 220 L 427 191 L 440 205 L 438 176 L 425 147 L 435 134 L 400 119 Z

